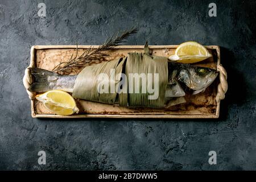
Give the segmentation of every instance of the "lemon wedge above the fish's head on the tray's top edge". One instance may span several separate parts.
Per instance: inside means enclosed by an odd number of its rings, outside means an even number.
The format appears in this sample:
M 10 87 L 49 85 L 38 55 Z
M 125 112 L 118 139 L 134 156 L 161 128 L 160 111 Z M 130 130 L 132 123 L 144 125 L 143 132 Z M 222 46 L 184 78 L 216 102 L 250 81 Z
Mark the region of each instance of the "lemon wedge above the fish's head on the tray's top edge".
M 170 56 L 168 59 L 188 64 L 203 61 L 208 57 L 212 57 L 212 55 L 201 44 L 197 42 L 185 42 L 180 44 L 175 50 L 175 55 Z

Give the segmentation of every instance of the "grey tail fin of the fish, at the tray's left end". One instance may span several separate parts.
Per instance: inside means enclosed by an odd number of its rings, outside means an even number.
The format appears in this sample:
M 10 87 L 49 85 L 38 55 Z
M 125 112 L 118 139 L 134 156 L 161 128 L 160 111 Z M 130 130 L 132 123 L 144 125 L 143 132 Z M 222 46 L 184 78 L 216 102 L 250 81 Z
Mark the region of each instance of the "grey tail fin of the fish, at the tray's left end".
M 47 92 L 55 88 L 57 79 L 59 78 L 57 73 L 40 68 L 29 69 L 34 78 L 34 82 L 28 88 L 30 92 Z

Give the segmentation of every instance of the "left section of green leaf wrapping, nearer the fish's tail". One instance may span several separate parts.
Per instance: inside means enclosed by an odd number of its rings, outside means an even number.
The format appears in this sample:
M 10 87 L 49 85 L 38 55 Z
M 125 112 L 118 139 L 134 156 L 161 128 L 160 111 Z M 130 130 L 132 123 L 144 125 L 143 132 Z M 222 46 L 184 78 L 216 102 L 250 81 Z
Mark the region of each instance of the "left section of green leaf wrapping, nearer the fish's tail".
M 90 65 L 82 69 L 77 75 L 75 86 L 73 89 L 73 97 L 81 98 L 88 101 L 103 102 L 106 104 L 114 104 L 117 92 L 112 93 L 110 90 L 110 84 L 117 84 L 121 76 L 118 73 L 122 72 L 123 63 L 125 59 L 116 59 L 105 63 L 96 65 Z M 111 69 L 115 70 L 114 79 L 110 77 Z M 109 76 L 109 80 L 104 80 L 106 77 L 102 77 L 101 73 L 105 73 Z M 105 82 L 109 85 L 107 93 L 99 93 L 98 85 Z

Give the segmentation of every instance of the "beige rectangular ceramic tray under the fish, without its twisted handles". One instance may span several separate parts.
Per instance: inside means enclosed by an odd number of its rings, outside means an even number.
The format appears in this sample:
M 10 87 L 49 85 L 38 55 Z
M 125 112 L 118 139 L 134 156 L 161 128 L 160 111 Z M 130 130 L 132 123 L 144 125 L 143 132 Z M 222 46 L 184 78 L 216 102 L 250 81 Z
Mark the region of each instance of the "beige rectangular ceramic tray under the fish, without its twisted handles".
M 78 55 L 92 46 L 78 46 Z M 93 46 L 97 48 L 98 46 Z M 173 55 L 177 46 L 149 46 L 152 55 Z M 216 69 L 220 64 L 220 48 L 218 46 L 205 46 L 213 57 L 201 61 L 202 67 Z M 92 64 L 102 61 L 113 60 L 117 57 L 125 57 L 128 52 L 143 52 L 144 46 L 118 46 L 113 51 L 107 52 L 109 56 Z M 32 67 L 52 70 L 60 61 L 68 61 L 71 56 L 76 55 L 76 46 L 33 46 L 31 48 Z M 210 85 L 205 92 L 185 97 L 187 102 L 168 109 L 151 108 L 127 108 L 115 105 L 101 104 L 85 100 L 76 100 L 80 109 L 79 114 L 56 115 L 49 112 L 41 102 L 31 101 L 32 117 L 36 118 L 218 118 L 220 103 L 216 104 L 217 85 L 219 77 Z

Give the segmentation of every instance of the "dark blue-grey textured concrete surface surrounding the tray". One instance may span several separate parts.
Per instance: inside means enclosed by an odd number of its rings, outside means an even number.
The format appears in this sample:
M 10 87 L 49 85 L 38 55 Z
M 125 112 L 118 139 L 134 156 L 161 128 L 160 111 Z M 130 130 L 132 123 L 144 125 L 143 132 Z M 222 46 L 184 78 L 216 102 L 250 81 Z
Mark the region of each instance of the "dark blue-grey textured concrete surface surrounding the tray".
M 38 3 L 46 3 L 39 18 Z M 209 17 L 215 2 L 217 17 Z M 0 169 L 256 169 L 255 1 L 0 1 Z M 22 84 L 33 45 L 221 46 L 229 90 L 219 119 L 33 119 Z M 38 164 L 38 151 L 47 164 Z M 210 166 L 208 152 L 217 152 Z

